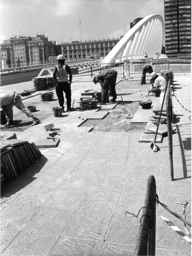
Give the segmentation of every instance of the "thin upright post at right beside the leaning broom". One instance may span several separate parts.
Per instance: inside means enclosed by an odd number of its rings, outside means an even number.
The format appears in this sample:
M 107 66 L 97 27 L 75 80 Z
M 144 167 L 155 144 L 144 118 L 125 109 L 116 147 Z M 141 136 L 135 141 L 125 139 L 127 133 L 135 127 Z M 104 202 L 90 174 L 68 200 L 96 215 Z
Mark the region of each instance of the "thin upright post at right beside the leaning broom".
M 167 114 L 167 135 L 168 135 L 168 145 L 169 145 L 169 162 L 170 162 L 170 176 L 171 181 L 174 180 L 173 175 L 173 138 L 172 138 L 172 108 L 171 108 L 171 92 L 170 92 L 170 80 L 167 85 L 167 95 L 166 95 L 166 114 Z

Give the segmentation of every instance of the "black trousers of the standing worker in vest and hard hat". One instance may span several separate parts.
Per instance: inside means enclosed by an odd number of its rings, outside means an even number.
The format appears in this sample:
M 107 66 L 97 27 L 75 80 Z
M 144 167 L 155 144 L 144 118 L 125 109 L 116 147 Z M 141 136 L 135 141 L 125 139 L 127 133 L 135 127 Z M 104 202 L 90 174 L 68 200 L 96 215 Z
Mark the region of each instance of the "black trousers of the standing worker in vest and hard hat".
M 56 85 L 55 88 L 59 106 L 63 107 L 64 105 L 64 97 L 63 97 L 63 91 L 65 92 L 65 98 L 67 99 L 67 107 L 71 107 L 71 86 L 68 82 L 58 82 L 58 85 Z

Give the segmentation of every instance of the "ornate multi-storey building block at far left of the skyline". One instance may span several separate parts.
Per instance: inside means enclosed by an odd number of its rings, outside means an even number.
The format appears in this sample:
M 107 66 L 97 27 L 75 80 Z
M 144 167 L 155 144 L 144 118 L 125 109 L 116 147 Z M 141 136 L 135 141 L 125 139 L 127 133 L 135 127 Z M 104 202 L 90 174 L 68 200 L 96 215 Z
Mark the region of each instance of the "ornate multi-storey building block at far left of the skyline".
M 61 45 L 48 41 L 45 35 L 18 38 L 15 36 L 1 44 L 1 61 L 4 64 L 39 64 L 46 62 L 54 53 L 61 54 Z

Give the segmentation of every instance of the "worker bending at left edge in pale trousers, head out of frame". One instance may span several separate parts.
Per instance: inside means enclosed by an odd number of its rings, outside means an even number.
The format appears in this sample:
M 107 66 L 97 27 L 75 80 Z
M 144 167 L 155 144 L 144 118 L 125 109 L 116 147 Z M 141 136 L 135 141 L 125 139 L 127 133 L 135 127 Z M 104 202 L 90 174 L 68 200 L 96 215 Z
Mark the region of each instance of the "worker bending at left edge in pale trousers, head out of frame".
M 7 124 L 5 127 L 14 125 L 13 121 L 13 106 L 17 107 L 23 113 L 25 113 L 28 117 L 33 118 L 33 125 L 37 125 L 40 123 L 40 120 L 36 118 L 29 110 L 25 107 L 22 102 L 21 95 L 16 91 L 7 91 L 0 93 L 1 99 L 1 108 L 5 113 Z

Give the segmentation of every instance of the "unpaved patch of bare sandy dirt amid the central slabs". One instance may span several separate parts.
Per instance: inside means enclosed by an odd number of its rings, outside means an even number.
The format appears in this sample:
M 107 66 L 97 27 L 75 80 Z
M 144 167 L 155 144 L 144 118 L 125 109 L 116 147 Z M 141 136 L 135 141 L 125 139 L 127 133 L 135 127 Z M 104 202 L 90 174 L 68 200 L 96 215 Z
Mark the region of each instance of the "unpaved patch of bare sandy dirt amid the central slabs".
M 139 107 L 139 103 L 134 101 L 126 101 L 124 102 L 124 105 L 118 103 L 113 110 L 109 111 L 109 114 L 104 119 L 88 119 L 81 126 L 93 126 L 91 130 L 92 132 L 127 132 L 144 130 L 145 124 L 131 124 L 131 119 L 134 117 L 134 114 Z

